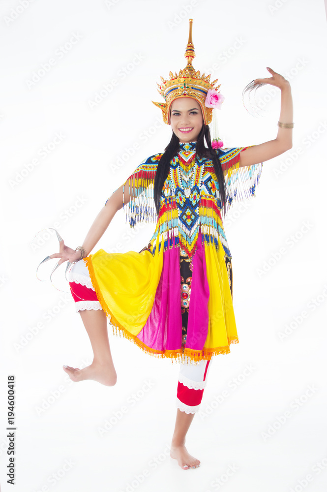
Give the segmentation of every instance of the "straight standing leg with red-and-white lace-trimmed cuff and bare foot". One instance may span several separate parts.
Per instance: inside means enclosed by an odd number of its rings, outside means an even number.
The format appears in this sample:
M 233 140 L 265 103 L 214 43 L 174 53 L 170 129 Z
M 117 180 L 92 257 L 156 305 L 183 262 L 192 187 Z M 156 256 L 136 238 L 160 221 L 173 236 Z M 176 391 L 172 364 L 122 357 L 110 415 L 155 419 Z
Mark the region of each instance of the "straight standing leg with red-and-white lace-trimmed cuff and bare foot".
M 170 456 L 184 470 L 197 468 L 200 461 L 191 456 L 185 447 L 186 433 L 202 400 L 208 368 L 211 361 L 200 361 L 198 365 L 180 364 L 177 389 L 177 416 Z

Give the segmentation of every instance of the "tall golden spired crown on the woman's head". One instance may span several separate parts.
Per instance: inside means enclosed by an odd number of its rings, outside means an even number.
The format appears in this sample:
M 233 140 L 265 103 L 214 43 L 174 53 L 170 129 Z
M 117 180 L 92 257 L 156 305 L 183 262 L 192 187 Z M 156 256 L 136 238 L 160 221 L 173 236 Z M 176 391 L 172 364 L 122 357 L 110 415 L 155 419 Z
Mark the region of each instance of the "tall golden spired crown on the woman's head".
M 187 60 L 187 65 L 183 70 L 179 70 L 179 73 L 175 74 L 169 72 L 169 79 L 165 80 L 162 77 L 161 85 L 157 84 L 159 87 L 158 92 L 163 96 L 166 102 L 153 102 L 162 111 L 163 121 L 170 124 L 170 108 L 171 104 L 175 99 L 179 97 L 192 97 L 196 99 L 201 106 L 202 115 L 205 124 L 211 123 L 212 120 L 212 107 L 207 107 L 205 101 L 207 98 L 207 93 L 209 89 L 217 91 L 220 85 L 214 87 L 218 79 L 210 83 L 210 75 L 202 74 L 200 71 L 195 71 L 192 60 L 195 58 L 194 45 L 192 42 L 192 24 L 193 19 L 189 19 L 190 30 L 188 36 L 188 42 L 185 51 L 185 58 Z

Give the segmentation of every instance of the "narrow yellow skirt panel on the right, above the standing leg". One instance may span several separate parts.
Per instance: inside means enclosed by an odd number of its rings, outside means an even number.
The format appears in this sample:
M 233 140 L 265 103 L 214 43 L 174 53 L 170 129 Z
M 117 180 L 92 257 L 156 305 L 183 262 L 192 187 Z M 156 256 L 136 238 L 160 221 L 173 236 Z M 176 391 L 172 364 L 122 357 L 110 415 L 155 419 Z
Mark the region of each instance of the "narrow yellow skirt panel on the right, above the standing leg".
M 218 251 L 207 243 L 204 246 L 210 292 L 209 326 L 205 349 L 225 347 L 238 340 L 232 294 L 224 259 L 225 251 L 220 241 Z

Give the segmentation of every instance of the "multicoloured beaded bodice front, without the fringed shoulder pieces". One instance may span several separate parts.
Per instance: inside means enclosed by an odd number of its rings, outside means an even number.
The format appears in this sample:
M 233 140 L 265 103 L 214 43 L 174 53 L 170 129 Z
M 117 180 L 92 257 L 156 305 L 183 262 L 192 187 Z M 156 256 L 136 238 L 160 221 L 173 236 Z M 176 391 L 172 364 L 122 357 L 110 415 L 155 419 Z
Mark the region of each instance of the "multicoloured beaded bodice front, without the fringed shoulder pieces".
M 215 209 L 215 218 L 221 222 L 221 203 L 212 161 L 198 157 L 195 149 L 196 142 L 179 144 L 161 193 L 157 225 L 159 237 L 162 237 L 159 247 L 162 241 L 164 250 L 179 244 L 189 257 L 196 249 L 200 225 L 202 233 L 207 233 L 217 245 L 218 223 L 211 224 L 215 230 L 210 227 L 208 219 L 213 215 L 207 210 L 208 206 L 212 211 Z

